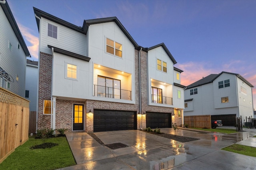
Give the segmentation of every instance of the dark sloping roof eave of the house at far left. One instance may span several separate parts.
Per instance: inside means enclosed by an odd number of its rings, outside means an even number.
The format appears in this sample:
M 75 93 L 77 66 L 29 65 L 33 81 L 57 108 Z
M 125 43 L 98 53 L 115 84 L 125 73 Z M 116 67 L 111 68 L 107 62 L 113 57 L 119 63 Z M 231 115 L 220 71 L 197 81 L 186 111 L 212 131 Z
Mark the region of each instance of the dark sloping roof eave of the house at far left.
M 4 14 L 5 14 L 6 18 L 8 19 L 8 21 L 12 27 L 12 30 L 14 31 L 14 33 L 20 43 L 20 46 L 22 47 L 26 57 L 31 57 L 30 53 L 28 51 L 28 47 L 22 37 L 22 34 L 20 33 L 20 29 L 14 19 L 14 16 L 12 15 L 12 11 L 11 11 L 7 1 L 2 1 L 2 2 L 5 2 L 5 3 L 0 3 L 0 6 L 2 7 L 2 9 L 4 11 Z

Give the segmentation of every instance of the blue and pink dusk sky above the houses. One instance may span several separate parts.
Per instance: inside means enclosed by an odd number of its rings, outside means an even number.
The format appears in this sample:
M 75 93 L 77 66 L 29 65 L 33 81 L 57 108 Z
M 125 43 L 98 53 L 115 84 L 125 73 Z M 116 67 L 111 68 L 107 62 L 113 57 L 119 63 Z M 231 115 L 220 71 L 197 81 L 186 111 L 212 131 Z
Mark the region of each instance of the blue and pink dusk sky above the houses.
M 181 84 L 222 71 L 256 86 L 256 0 L 7 0 L 31 60 L 38 61 L 33 7 L 74 25 L 116 16 L 142 47 L 164 43 Z M 89 56 L 90 57 L 90 56 Z M 256 88 L 253 88 L 256 107 Z

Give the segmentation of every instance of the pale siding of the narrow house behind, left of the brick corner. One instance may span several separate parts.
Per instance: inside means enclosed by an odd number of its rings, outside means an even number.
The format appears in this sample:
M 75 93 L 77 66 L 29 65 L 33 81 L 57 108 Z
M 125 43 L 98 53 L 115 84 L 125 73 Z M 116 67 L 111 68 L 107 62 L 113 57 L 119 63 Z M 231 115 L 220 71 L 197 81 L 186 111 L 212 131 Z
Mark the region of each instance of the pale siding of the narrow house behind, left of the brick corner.
M 36 111 L 38 94 L 38 66 L 26 66 L 26 90 L 29 91 L 29 110 Z

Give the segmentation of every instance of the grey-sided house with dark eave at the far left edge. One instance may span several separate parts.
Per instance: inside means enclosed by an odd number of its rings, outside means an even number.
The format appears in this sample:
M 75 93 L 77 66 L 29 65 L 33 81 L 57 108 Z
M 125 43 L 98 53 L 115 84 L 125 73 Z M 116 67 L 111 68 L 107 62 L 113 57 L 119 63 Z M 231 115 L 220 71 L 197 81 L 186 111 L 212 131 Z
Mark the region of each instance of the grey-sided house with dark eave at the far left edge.
M 25 97 L 30 53 L 7 1 L 0 0 L 0 87 Z

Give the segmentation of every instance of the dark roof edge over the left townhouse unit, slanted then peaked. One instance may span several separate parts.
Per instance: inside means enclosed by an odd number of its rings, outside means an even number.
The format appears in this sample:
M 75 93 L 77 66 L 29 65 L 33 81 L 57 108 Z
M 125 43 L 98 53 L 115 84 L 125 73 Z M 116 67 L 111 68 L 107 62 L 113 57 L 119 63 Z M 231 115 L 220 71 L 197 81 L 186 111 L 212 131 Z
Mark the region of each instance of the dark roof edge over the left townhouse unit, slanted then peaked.
M 68 27 L 70 29 L 73 29 L 74 31 L 78 31 L 82 34 L 87 34 L 88 31 L 88 27 L 90 25 L 93 24 L 98 24 L 98 23 L 107 23 L 107 22 L 115 22 L 116 25 L 118 25 L 118 27 L 123 31 L 123 33 L 126 35 L 126 37 L 132 42 L 132 44 L 134 45 L 135 48 L 138 48 L 139 45 L 134 41 L 134 39 L 132 38 L 132 36 L 128 33 L 128 31 L 124 28 L 124 26 L 122 25 L 122 23 L 116 18 L 116 17 L 108 17 L 108 18 L 98 18 L 98 19 L 92 19 L 92 20 L 84 20 L 83 26 L 79 27 L 76 26 L 72 23 L 69 23 L 67 21 L 64 21 L 56 16 L 53 16 L 51 14 L 48 14 L 47 12 L 44 12 L 42 10 L 39 10 L 35 7 L 33 7 L 34 9 L 34 13 L 36 15 L 36 23 L 37 23 L 37 27 L 38 27 L 38 31 L 39 31 L 39 27 L 40 27 L 40 20 L 37 18 L 46 18 L 47 20 L 53 21 L 55 23 L 58 23 L 60 25 L 63 25 L 65 27 Z

